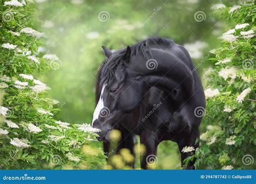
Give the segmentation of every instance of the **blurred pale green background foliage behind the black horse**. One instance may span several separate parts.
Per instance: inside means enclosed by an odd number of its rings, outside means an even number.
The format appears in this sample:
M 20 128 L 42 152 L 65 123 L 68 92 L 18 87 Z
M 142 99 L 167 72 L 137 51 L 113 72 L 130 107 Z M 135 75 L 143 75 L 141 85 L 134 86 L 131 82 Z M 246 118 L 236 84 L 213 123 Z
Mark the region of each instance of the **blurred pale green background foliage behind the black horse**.
M 55 116 L 64 122 L 91 122 L 97 72 L 104 60 L 102 45 L 120 49 L 150 37 L 171 38 L 185 45 L 195 65 L 203 63 L 198 68 L 201 74 L 211 65 L 204 62 L 204 56 L 217 46 L 216 38 L 225 29 L 212 17 L 211 1 L 36 2 L 42 20 L 38 30 L 46 33 L 47 52 L 56 54 L 62 62 L 61 68 L 51 70 L 44 82 L 52 88 L 51 96 L 60 101 L 62 111 Z M 99 18 L 103 11 L 109 16 L 105 22 Z M 205 13 L 205 19 L 200 22 L 194 18 L 198 11 Z M 205 129 L 206 125 L 202 126 Z M 158 168 L 180 168 L 176 143 L 161 143 L 158 158 Z

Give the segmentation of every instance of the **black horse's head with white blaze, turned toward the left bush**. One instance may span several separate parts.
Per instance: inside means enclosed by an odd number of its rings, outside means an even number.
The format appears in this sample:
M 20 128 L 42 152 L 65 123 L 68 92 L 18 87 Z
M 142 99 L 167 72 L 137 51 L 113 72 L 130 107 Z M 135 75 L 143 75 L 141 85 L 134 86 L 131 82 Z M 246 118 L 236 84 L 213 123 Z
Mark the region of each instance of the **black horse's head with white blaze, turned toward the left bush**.
M 99 81 L 99 100 L 93 113 L 92 127 L 100 129 L 98 140 L 108 140 L 110 130 L 138 108 L 143 97 L 143 79 L 129 67 L 131 49 L 113 54 L 103 47 L 106 62 Z

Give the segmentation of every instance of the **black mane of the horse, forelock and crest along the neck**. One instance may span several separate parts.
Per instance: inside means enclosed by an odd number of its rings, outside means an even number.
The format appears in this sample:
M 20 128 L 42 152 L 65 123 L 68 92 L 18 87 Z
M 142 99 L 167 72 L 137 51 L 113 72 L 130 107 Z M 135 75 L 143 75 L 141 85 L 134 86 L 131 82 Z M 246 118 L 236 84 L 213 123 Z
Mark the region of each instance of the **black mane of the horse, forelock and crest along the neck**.
M 149 48 L 168 48 L 174 42 L 171 39 L 165 38 L 149 38 L 140 41 L 137 44 L 130 46 L 131 56 L 142 56 L 145 59 L 152 58 L 152 54 Z M 120 64 L 122 56 L 125 54 L 126 48 L 120 49 L 114 52 L 110 58 L 106 58 L 102 63 L 102 69 L 100 70 L 100 87 L 101 89 L 103 83 L 108 83 L 114 78 L 117 66 Z

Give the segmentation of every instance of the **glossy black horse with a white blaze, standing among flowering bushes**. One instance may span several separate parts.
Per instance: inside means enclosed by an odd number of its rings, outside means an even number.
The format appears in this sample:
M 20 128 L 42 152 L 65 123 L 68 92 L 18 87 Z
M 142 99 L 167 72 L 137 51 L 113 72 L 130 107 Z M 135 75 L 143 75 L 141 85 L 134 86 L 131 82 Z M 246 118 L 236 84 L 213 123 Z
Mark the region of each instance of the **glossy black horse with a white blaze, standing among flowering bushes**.
M 156 155 L 163 140 L 175 141 L 181 166 L 191 152 L 185 146 L 199 146 L 199 125 L 204 115 L 205 95 L 186 49 L 170 39 L 152 38 L 111 52 L 103 46 L 106 59 L 96 84 L 96 104 L 92 126 L 98 140 L 109 152 L 109 132 L 122 132 L 118 150 L 133 154 L 134 135 L 146 146 L 141 167 L 147 168 L 149 155 Z M 187 169 L 193 169 L 194 161 Z

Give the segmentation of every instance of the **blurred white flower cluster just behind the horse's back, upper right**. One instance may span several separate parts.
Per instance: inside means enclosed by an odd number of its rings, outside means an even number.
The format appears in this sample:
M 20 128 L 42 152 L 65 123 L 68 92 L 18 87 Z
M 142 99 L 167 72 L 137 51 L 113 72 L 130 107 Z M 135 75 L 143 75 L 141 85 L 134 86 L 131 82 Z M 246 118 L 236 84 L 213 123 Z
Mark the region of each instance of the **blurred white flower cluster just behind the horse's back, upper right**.
M 200 58 L 203 56 L 203 52 L 200 50 L 204 49 L 206 46 L 207 44 L 202 41 L 184 44 L 184 47 L 187 49 L 188 53 L 190 53 L 191 58 Z

